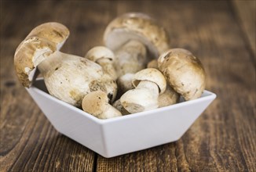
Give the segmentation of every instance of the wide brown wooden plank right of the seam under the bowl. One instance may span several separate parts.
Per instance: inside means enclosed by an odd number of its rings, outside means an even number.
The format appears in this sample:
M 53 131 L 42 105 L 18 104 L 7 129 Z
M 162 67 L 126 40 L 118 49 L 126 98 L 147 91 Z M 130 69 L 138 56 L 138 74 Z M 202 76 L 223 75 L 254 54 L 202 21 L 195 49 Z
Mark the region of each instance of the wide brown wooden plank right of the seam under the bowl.
M 155 16 L 171 47 L 187 48 L 207 71 L 218 99 L 177 142 L 112 159 L 97 171 L 254 171 L 255 69 L 229 2 L 119 2 L 117 14 Z

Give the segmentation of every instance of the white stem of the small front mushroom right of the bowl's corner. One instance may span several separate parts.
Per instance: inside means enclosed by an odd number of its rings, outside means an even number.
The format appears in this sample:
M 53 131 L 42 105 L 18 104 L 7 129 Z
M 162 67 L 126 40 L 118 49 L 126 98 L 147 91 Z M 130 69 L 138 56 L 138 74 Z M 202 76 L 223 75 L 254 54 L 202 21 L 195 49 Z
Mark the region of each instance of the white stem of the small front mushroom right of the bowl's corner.
M 133 90 L 122 95 L 120 101 L 129 113 L 158 108 L 159 87 L 152 81 L 141 81 Z

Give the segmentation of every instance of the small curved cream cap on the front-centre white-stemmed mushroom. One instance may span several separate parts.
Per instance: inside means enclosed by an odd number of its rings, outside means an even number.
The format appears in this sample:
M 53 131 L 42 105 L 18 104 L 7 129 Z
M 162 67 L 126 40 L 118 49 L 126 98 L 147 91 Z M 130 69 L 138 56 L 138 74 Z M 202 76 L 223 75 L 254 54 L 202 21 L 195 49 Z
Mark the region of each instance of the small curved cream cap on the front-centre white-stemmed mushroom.
M 155 68 L 147 68 L 135 73 L 133 77 L 133 86 L 136 87 L 140 81 L 152 81 L 159 87 L 159 93 L 162 94 L 166 90 L 166 79 L 163 74 Z

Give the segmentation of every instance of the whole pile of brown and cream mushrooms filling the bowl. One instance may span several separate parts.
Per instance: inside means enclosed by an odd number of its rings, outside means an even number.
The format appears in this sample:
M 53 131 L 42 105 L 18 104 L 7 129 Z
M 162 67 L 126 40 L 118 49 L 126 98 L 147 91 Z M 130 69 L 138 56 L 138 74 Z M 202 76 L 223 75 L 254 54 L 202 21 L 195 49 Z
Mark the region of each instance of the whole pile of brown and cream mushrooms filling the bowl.
M 100 119 L 139 113 L 199 98 L 206 73 L 192 52 L 170 48 L 163 27 L 143 13 L 115 18 L 104 46 L 85 57 L 60 52 L 69 36 L 60 23 L 43 23 L 16 48 L 14 66 L 30 88 L 38 73 L 50 95 Z

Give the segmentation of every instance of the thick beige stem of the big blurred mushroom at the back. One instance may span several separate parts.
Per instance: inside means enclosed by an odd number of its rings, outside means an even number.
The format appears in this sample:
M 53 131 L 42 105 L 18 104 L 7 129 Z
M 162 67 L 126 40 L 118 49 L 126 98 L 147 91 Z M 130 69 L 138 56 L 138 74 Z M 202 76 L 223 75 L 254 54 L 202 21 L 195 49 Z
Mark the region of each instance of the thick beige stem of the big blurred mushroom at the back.
M 146 48 L 140 41 L 128 41 L 125 45 L 115 51 L 115 69 L 118 73 L 118 83 L 122 84 L 123 92 L 132 89 L 131 84 L 125 84 L 123 78 L 126 74 L 137 73 L 144 69 L 146 60 Z M 131 78 L 128 83 L 131 83 Z M 127 82 L 127 81 L 126 81 Z

